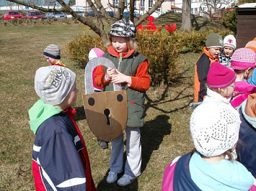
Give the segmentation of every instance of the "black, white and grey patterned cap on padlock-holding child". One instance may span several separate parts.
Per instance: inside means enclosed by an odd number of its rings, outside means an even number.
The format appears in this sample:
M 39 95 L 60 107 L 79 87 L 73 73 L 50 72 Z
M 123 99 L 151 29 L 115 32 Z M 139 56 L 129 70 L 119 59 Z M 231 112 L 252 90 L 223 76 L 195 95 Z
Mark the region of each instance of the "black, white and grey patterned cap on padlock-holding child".
M 133 22 L 128 19 L 120 19 L 110 27 L 111 36 L 117 37 L 136 37 L 137 29 Z

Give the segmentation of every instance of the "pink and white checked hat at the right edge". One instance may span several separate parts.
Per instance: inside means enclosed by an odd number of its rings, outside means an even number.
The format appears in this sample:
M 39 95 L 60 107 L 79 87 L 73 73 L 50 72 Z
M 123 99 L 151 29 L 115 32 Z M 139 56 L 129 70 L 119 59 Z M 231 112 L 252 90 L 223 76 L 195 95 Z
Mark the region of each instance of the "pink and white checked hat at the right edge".
M 256 53 L 249 48 L 239 48 L 231 56 L 231 68 L 233 70 L 247 70 L 249 67 L 255 68 Z

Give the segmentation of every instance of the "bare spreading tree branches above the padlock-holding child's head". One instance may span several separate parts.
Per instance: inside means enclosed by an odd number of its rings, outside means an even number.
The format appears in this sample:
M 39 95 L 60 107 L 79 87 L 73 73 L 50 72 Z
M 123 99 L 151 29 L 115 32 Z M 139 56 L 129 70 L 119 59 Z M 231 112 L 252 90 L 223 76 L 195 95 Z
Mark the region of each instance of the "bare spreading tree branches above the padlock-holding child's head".
M 22 0 L 9 0 L 12 1 L 14 3 L 17 4 L 22 4 L 24 6 L 30 6 L 33 9 L 37 9 L 40 11 L 45 11 L 45 12 L 58 12 L 58 11 L 63 11 L 67 14 L 71 14 L 75 19 L 77 19 L 79 22 L 81 22 L 82 24 L 87 25 L 88 27 L 90 27 L 96 34 L 98 34 L 100 36 L 100 38 L 102 39 L 102 42 L 104 43 L 105 46 L 107 46 L 107 34 L 104 30 L 104 22 L 107 22 L 108 24 L 112 24 L 113 22 L 122 19 L 123 17 L 123 11 L 125 9 L 125 0 L 119 0 L 118 2 L 118 7 L 115 9 L 118 9 L 118 13 L 116 14 L 115 18 L 110 17 L 110 15 L 107 13 L 107 11 L 105 10 L 105 8 L 102 6 L 102 3 L 100 0 L 86 0 L 87 4 L 90 6 L 90 8 L 92 9 L 92 11 L 95 14 L 96 19 L 87 19 L 86 17 L 81 17 L 79 16 L 79 14 L 77 14 L 73 9 L 71 9 L 71 3 L 72 0 L 69 0 L 69 2 L 66 4 L 63 0 L 55 0 L 58 1 L 59 4 L 61 4 L 61 8 L 56 9 L 55 6 L 53 6 L 52 9 L 46 9 L 43 8 L 42 6 L 37 6 L 36 4 L 33 3 L 27 3 L 25 1 Z M 134 1 L 135 0 L 130 0 L 130 3 L 128 4 L 128 7 L 130 9 L 130 17 L 129 19 L 131 21 L 134 22 L 134 16 L 133 16 L 133 12 L 134 12 Z M 138 20 L 135 21 L 135 25 L 136 27 L 138 27 L 139 24 L 141 24 L 141 22 L 143 22 L 144 20 L 146 20 L 147 17 L 149 17 L 149 15 L 151 15 L 154 11 L 156 11 L 157 8 L 159 8 L 162 3 L 164 2 L 164 0 L 156 0 L 156 3 L 154 4 L 154 6 L 149 9 L 149 11 L 146 11 L 146 13 L 140 17 Z M 110 7 L 115 7 L 115 5 L 110 4 Z M 100 16 L 99 12 L 97 10 L 100 10 L 101 14 L 103 17 Z

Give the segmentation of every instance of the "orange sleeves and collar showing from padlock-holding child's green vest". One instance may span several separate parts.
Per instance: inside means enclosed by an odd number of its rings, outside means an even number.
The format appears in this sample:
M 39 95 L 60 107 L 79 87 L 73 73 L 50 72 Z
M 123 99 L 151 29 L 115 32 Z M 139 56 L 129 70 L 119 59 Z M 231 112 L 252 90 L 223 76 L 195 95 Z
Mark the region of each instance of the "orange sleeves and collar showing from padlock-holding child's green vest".
M 130 50 L 129 52 L 122 52 L 122 57 L 128 57 L 133 53 L 134 50 Z M 111 55 L 115 55 L 120 59 L 120 53 L 116 52 L 115 49 L 110 46 L 107 48 L 107 52 L 109 52 Z M 137 73 L 135 76 L 131 77 L 131 85 L 129 85 L 130 88 L 133 88 L 134 90 L 138 91 L 146 91 L 149 89 L 150 85 L 150 78 L 149 78 L 149 62 L 148 60 L 144 60 L 141 65 L 137 68 Z M 109 84 L 111 80 L 105 80 L 105 73 L 103 70 L 103 66 L 100 65 L 97 67 L 97 70 L 94 73 L 94 82 L 96 85 L 99 85 L 100 87 L 104 87 L 105 85 Z

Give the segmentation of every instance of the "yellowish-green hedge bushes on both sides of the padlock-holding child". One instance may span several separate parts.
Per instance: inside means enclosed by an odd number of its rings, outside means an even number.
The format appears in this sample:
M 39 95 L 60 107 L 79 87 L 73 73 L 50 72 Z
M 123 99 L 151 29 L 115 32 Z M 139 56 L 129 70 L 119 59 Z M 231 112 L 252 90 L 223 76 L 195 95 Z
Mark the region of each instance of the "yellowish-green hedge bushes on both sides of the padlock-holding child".
M 177 80 L 179 71 L 177 65 L 180 61 L 180 54 L 185 52 L 202 52 L 208 34 L 216 32 L 222 37 L 234 34 L 230 30 L 212 30 L 204 32 L 173 32 L 171 34 L 155 32 L 137 32 L 136 41 L 138 42 L 138 52 L 146 56 L 149 60 L 149 75 L 151 85 L 161 83 L 168 84 Z M 66 50 L 69 59 L 75 60 L 79 66 L 84 68 L 87 64 L 88 53 L 94 47 L 98 47 L 106 52 L 102 40 L 99 36 L 91 37 L 84 33 L 77 39 L 69 42 Z

